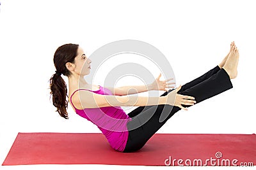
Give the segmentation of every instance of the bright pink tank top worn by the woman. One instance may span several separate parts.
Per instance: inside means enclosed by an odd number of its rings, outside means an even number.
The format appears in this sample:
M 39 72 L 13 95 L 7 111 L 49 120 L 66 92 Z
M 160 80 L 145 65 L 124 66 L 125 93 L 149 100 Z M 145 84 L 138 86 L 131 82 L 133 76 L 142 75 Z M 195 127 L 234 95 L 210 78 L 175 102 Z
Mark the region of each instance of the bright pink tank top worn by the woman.
M 89 91 L 102 95 L 113 95 L 109 89 L 101 87 L 100 85 L 99 87 L 99 90 Z M 79 110 L 72 103 L 72 96 L 76 91 L 70 96 L 70 102 L 75 108 L 77 115 L 97 125 L 114 150 L 120 152 L 124 151 L 128 139 L 127 123 L 131 121 L 132 118 L 130 118 L 120 106 L 84 108 L 83 110 Z

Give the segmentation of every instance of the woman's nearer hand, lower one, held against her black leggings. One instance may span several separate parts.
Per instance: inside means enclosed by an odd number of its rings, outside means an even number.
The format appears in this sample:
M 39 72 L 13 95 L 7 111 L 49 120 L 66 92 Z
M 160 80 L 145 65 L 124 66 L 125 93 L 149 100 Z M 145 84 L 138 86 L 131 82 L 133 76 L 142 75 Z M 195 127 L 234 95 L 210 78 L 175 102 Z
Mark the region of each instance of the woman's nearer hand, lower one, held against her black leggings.
M 181 88 L 181 85 L 177 89 L 172 90 L 172 92 L 170 92 L 166 95 L 166 97 L 167 97 L 166 104 L 170 104 L 172 106 L 177 106 L 179 108 L 182 108 L 183 110 L 188 111 L 188 109 L 181 106 L 181 104 L 194 105 L 194 103 L 196 103 L 195 97 L 177 94 L 177 92 L 179 92 L 180 88 Z

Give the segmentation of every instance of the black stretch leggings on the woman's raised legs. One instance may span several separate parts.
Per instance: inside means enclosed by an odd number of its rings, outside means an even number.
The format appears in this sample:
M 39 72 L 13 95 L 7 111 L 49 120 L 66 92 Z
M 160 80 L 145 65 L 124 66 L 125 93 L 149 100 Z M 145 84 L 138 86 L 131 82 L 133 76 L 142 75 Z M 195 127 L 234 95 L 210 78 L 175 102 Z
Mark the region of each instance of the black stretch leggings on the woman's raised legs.
M 195 80 L 182 85 L 178 94 L 193 96 L 195 97 L 195 104 L 198 104 L 232 88 L 232 83 L 225 69 L 220 69 L 219 66 L 216 66 Z M 175 89 L 170 89 L 161 96 L 166 96 L 172 90 Z M 187 108 L 191 105 L 182 104 L 182 106 Z M 140 150 L 148 139 L 179 110 L 181 108 L 169 104 L 140 106 L 132 110 L 131 113 L 128 113 L 132 120 L 127 124 L 129 136 L 123 152 Z

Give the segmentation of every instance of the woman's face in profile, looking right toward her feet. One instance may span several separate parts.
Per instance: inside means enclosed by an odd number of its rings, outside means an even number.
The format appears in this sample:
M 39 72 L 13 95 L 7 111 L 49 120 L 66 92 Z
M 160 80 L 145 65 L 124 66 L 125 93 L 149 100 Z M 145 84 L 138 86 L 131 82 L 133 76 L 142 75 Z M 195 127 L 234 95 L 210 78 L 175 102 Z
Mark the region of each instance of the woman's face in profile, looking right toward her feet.
M 79 73 L 81 76 L 88 75 L 90 73 L 90 63 L 92 60 L 88 59 L 84 54 L 83 49 L 79 46 L 77 49 L 77 56 L 75 58 L 76 73 Z

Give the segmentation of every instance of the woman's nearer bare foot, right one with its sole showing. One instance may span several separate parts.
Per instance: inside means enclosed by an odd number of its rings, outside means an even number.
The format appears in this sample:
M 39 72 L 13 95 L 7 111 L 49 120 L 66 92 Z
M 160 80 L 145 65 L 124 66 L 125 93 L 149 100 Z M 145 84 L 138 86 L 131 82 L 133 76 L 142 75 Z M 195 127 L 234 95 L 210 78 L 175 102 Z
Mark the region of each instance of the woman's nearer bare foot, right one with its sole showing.
M 235 43 L 232 45 L 232 49 L 230 54 L 228 55 L 228 59 L 223 66 L 223 69 L 227 71 L 228 76 L 230 79 L 236 78 L 237 76 L 237 65 L 238 65 L 238 60 L 239 60 L 239 52 L 237 50 L 237 47 Z

